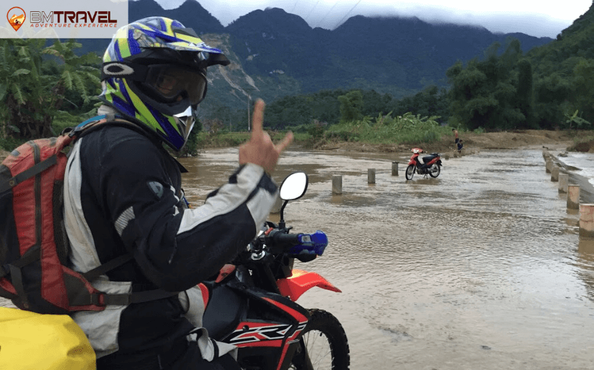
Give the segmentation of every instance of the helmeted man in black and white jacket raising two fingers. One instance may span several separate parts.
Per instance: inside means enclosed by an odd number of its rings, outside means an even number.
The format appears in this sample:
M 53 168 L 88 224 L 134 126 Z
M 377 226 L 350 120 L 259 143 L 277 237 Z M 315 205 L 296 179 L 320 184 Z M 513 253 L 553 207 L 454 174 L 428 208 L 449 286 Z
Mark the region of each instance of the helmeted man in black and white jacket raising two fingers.
M 216 64 L 229 60 L 164 17 L 119 29 L 103 57 L 99 114 L 108 122 L 75 142 L 64 177 L 69 260 L 79 272 L 106 266 L 92 285 L 115 297 L 103 311 L 73 313 L 98 369 L 239 369 L 233 346 L 196 331 L 208 301 L 197 284 L 255 237 L 277 195 L 270 173 L 292 134 L 274 145 L 256 101 L 240 167 L 189 209 L 184 169 L 162 144 L 182 149 Z

